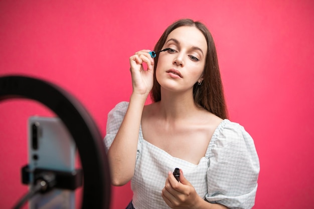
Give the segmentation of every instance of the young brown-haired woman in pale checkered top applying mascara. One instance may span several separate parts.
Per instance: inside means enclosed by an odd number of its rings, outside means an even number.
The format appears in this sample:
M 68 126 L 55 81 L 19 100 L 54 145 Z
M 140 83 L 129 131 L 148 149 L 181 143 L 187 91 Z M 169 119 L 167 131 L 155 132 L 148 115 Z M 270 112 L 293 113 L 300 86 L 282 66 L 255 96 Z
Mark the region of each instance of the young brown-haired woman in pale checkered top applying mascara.
M 108 114 L 112 184 L 131 180 L 127 208 L 251 208 L 259 160 L 250 135 L 227 119 L 210 32 L 179 20 L 154 51 L 130 57 L 130 101 Z M 153 103 L 144 105 L 149 93 Z

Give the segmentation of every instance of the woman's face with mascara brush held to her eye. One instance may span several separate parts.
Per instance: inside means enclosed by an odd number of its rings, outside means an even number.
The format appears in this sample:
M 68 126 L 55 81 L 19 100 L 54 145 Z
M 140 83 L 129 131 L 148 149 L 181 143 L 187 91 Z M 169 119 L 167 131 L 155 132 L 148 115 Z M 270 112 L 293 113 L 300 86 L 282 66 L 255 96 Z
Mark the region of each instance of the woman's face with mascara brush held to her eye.
M 207 42 L 200 30 L 183 26 L 172 31 L 159 54 L 156 79 L 170 91 L 193 90 L 203 80 Z

